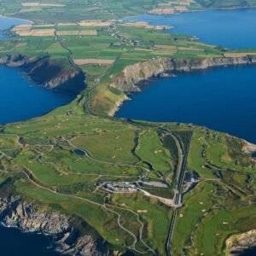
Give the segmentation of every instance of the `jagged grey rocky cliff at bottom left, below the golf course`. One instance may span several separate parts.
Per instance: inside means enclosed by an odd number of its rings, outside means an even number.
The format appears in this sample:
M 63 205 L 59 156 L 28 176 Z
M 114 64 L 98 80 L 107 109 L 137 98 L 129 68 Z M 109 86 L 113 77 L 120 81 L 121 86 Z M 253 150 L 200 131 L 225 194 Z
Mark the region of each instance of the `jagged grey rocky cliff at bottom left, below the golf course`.
M 108 255 L 93 236 L 82 235 L 74 227 L 73 218 L 57 212 L 43 212 L 37 205 L 21 201 L 19 197 L 0 198 L 0 221 L 20 230 L 52 236 L 62 254 Z

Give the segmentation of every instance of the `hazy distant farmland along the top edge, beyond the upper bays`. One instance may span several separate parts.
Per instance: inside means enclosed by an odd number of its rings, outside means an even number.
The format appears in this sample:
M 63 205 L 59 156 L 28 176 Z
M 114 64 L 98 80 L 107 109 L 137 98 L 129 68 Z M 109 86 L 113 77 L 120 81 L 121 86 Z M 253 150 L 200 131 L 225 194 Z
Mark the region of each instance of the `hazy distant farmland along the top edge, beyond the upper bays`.
M 167 3 L 168 8 L 186 7 L 188 10 L 206 8 L 234 8 L 255 6 L 255 0 L 195 0 L 174 1 L 167 0 L 43 0 L 43 1 L 9 1 L 0 3 L 0 14 L 15 15 L 16 17 L 36 20 L 38 23 L 75 22 L 79 20 L 113 20 L 134 15 L 150 13 L 152 9 L 160 9 Z M 178 3 L 181 2 L 181 3 Z M 189 4 L 183 4 L 188 2 Z M 44 5 L 31 5 L 29 3 L 44 3 Z M 49 6 L 54 3 L 59 6 Z M 169 3 L 169 4 L 168 4 Z M 178 12 L 178 11 L 177 11 Z M 46 21 L 47 20 L 47 21 Z

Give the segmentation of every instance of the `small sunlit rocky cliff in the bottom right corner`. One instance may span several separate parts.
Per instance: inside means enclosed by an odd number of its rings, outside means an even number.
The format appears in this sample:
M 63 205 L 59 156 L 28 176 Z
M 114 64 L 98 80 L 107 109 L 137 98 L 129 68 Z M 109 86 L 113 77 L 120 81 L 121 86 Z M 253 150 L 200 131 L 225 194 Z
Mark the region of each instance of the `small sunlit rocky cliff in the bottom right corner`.
M 226 255 L 237 256 L 249 247 L 256 247 L 256 230 L 241 235 L 231 236 L 226 241 Z

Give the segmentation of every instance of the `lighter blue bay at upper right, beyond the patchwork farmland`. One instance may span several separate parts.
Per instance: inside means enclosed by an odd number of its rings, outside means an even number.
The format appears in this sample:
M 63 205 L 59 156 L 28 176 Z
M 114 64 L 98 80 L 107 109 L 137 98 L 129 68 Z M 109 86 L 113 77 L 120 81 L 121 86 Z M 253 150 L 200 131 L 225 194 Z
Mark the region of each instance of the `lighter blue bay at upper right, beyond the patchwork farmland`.
M 207 10 L 179 15 L 140 15 L 125 20 L 143 20 L 152 25 L 174 26 L 166 32 L 196 36 L 203 43 L 225 48 L 256 48 L 256 9 Z

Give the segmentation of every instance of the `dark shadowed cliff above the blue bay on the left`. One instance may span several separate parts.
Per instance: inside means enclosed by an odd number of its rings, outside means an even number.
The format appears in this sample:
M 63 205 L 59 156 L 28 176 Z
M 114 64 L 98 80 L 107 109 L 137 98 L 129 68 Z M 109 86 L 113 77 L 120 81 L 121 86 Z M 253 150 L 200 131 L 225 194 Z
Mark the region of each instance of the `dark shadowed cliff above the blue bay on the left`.
M 0 65 L 20 67 L 29 79 L 38 86 L 51 90 L 79 92 L 85 88 L 84 73 L 74 67 L 61 67 L 49 57 L 29 58 L 25 55 L 6 55 L 0 58 Z

